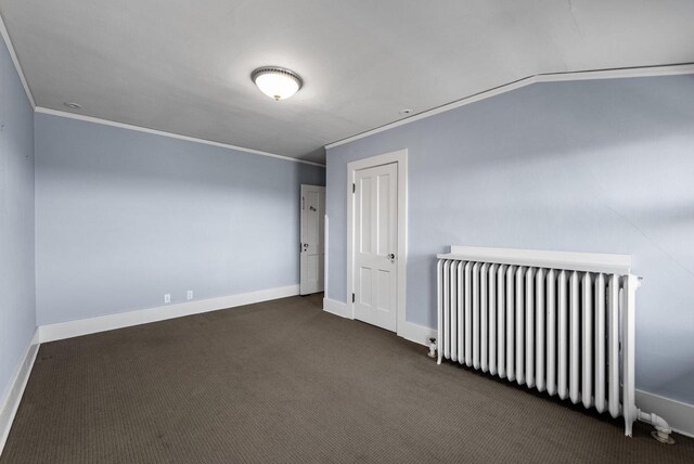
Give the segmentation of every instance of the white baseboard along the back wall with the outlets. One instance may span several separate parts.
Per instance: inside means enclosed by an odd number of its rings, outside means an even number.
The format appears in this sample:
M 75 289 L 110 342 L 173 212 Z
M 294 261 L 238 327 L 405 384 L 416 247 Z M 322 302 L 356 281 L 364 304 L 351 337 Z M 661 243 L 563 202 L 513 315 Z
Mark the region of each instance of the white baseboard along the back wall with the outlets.
M 56 324 L 39 326 L 39 340 L 42 344 L 47 341 L 62 340 L 65 338 L 78 337 L 80 335 L 95 334 L 98 332 L 147 324 L 150 322 L 181 318 L 183 315 L 200 314 L 202 312 L 252 305 L 254 302 L 285 298 L 298 294 L 299 286 L 290 285 L 286 287 L 268 288 L 239 295 L 166 305 L 157 308 L 119 312 L 116 314 L 100 315 L 97 318 L 79 319 L 77 321 L 59 322 Z

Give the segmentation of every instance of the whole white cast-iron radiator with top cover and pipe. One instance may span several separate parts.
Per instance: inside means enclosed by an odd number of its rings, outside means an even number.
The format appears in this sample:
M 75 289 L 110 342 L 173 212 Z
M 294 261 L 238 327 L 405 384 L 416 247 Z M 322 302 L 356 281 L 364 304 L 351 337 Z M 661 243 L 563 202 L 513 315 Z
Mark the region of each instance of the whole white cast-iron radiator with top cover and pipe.
M 438 255 L 438 362 L 670 428 L 634 403 L 631 257 L 452 246 Z

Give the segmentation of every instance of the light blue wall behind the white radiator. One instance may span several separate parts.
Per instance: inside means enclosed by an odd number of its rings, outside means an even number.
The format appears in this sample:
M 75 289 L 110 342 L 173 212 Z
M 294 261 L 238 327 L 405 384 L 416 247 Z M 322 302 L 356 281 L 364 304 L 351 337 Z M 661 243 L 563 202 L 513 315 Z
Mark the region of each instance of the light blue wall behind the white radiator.
M 694 403 L 694 76 L 541 83 L 327 152 L 346 301 L 347 162 L 409 150 L 407 319 L 434 327 L 448 245 L 630 254 L 637 386 Z

